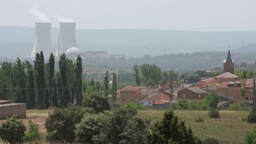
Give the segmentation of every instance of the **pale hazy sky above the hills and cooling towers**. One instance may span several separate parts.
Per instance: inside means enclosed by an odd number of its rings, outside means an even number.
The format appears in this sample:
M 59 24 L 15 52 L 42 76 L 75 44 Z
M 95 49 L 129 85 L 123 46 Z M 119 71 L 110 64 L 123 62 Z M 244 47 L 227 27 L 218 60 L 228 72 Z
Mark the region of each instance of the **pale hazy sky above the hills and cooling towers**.
M 255 0 L 1 0 L 0 26 L 34 27 L 35 5 L 54 27 L 59 15 L 86 29 L 256 31 Z

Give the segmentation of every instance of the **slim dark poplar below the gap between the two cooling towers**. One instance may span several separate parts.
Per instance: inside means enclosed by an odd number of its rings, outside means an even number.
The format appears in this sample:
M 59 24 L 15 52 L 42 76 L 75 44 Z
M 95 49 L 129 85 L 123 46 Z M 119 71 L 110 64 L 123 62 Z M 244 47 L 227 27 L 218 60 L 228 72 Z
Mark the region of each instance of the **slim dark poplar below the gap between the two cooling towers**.
M 53 88 L 53 77 L 54 77 L 54 70 L 55 70 L 55 56 L 53 55 L 53 53 L 51 53 L 50 57 L 49 57 L 49 68 L 48 68 L 48 83 L 49 86 L 49 101 L 51 104 L 53 104 L 53 97 L 54 97 L 54 89 Z M 55 82 L 56 85 L 56 82 Z M 56 103 L 55 103 L 56 104 Z M 54 105 L 54 104 L 53 104 Z

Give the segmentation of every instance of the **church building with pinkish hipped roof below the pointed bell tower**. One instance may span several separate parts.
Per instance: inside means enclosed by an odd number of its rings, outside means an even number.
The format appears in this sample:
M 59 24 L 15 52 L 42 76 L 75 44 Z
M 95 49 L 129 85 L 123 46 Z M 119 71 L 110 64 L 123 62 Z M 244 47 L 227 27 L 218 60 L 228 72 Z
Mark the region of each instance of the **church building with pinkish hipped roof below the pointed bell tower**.
M 239 76 L 231 74 L 229 72 L 226 72 L 226 73 L 223 73 L 223 74 L 220 74 L 220 75 L 214 77 L 214 80 L 217 83 L 232 82 L 232 81 L 236 81 L 238 79 L 239 79 Z

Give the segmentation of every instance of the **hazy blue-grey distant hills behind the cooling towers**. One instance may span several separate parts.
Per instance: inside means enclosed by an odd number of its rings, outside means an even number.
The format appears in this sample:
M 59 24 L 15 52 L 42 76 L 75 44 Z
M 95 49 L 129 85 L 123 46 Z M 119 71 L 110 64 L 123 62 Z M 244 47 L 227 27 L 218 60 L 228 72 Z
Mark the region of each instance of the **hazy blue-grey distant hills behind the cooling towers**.
M 32 27 L 0 27 L 0 56 L 30 57 L 35 29 Z M 52 28 L 53 47 L 57 47 L 59 28 Z M 256 32 L 192 32 L 154 29 L 77 29 L 80 50 L 108 51 L 111 54 L 164 55 L 197 51 L 251 52 L 256 48 Z M 241 49 L 242 43 L 245 49 Z M 248 45 L 248 46 L 247 46 Z M 236 50 L 237 49 L 237 50 Z

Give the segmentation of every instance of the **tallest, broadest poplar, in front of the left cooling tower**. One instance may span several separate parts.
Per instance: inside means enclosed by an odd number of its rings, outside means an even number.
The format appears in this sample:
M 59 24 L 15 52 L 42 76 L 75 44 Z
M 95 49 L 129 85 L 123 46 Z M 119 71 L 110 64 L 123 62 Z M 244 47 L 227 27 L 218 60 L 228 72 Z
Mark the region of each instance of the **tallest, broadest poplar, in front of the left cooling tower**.
M 34 70 L 36 73 L 37 94 L 38 94 L 38 108 L 44 109 L 45 97 L 45 74 L 44 74 L 44 55 L 43 51 L 36 53 L 36 60 L 34 61 Z

